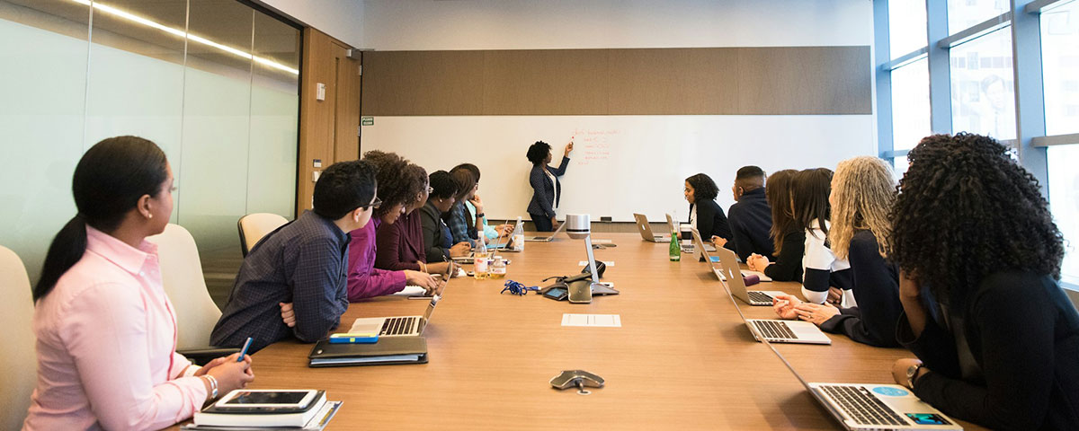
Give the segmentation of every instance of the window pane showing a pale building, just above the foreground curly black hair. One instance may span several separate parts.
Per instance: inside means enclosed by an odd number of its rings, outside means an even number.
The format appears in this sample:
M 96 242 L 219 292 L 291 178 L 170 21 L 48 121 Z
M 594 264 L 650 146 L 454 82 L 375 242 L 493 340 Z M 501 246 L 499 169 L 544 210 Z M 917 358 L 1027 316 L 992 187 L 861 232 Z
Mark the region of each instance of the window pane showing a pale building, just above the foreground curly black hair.
M 951 66 L 953 131 L 1015 139 L 1011 27 L 953 47 Z

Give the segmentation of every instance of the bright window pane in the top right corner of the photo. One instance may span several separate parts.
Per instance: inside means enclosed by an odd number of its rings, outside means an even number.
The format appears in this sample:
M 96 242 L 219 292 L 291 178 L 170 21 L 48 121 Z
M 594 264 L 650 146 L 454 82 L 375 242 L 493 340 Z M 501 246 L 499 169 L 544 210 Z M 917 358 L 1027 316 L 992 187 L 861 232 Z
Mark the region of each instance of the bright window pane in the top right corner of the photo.
M 1079 1 L 1041 14 L 1041 61 L 1046 134 L 1079 133 Z

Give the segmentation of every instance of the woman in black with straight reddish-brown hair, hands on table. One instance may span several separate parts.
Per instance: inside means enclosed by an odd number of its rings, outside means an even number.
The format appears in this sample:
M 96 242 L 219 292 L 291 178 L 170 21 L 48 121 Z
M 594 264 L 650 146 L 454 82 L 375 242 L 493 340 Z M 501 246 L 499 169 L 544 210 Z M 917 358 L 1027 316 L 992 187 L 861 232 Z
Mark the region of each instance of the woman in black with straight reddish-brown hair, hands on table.
M 764 273 L 776 281 L 802 281 L 802 253 L 805 251 L 806 231 L 797 226 L 791 208 L 791 189 L 797 170 L 783 169 L 768 178 L 764 189 L 765 198 L 771 209 L 773 246 L 776 262 L 753 253 L 746 264 L 752 270 Z

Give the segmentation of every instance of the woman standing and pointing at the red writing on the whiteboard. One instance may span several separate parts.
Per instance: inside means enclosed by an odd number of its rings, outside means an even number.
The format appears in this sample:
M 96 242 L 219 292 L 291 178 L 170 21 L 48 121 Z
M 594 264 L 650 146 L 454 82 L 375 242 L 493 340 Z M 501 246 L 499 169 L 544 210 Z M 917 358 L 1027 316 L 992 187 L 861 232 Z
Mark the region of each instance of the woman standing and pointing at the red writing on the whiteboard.
M 532 223 L 536 225 L 538 232 L 551 232 L 558 220 L 555 219 L 555 211 L 558 210 L 558 201 L 562 197 L 562 184 L 558 177 L 565 173 L 565 166 L 570 164 L 570 152 L 573 151 L 573 141 L 565 144 L 565 152 L 562 154 L 562 163 L 558 168 L 549 166 L 550 144 L 544 141 L 536 141 L 529 147 L 529 162 L 532 162 L 532 172 L 529 173 L 529 183 L 532 184 L 532 200 L 529 201 L 529 214 L 532 215 Z

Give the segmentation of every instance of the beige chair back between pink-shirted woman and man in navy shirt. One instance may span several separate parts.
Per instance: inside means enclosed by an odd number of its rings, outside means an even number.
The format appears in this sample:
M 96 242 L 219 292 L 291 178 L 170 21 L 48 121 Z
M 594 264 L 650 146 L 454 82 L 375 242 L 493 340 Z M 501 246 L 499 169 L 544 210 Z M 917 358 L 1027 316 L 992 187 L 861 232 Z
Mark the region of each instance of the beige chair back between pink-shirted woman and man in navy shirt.
M 165 293 L 176 309 L 177 348 L 209 346 L 209 333 L 221 310 L 206 290 L 195 239 L 188 230 L 172 223 L 165 232 L 146 239 L 158 245 Z

